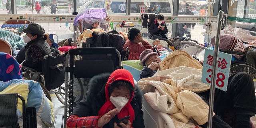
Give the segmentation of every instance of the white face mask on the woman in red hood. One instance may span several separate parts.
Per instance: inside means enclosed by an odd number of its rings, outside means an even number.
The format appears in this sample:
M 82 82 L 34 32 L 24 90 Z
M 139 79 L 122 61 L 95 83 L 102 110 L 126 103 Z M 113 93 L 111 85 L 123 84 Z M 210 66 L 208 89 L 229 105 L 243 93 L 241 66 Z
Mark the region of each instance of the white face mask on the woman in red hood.
M 123 97 L 123 96 L 110 96 L 109 100 L 111 101 L 112 104 L 120 111 L 124 106 L 128 103 L 129 99 Z

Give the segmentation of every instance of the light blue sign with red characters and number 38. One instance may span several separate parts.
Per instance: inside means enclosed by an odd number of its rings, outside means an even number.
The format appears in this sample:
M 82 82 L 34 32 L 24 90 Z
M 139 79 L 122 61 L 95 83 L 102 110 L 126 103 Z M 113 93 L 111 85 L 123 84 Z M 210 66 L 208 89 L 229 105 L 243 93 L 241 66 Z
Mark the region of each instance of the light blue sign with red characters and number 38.
M 213 64 L 214 50 L 205 49 L 204 64 L 202 71 L 202 82 L 211 84 L 212 64 Z M 227 91 L 228 77 L 231 64 L 231 54 L 218 52 L 218 60 L 216 64 L 215 74 L 215 88 Z

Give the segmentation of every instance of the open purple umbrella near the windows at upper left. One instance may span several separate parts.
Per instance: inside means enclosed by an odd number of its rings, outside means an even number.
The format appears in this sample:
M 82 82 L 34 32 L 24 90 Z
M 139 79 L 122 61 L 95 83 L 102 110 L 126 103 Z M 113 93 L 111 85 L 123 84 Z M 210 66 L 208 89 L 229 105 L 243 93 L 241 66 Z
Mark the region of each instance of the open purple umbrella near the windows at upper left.
M 88 18 L 88 19 L 104 19 L 106 18 L 106 9 L 105 8 L 87 8 L 86 10 L 80 12 L 75 20 L 74 26 L 78 25 L 78 20 Z

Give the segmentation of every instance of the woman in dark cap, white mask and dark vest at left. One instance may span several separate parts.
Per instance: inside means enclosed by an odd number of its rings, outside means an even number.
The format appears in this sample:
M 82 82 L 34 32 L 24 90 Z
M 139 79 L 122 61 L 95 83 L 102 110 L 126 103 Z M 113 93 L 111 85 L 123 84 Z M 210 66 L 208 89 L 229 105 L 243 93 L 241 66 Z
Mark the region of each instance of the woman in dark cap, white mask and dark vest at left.
M 45 41 L 49 38 L 48 34 L 44 34 L 44 28 L 39 24 L 29 24 L 27 28 L 22 29 L 26 35 L 23 37 L 25 43 L 25 61 L 23 66 L 27 66 L 36 70 L 41 70 L 42 60 L 45 55 L 52 55 L 49 44 Z

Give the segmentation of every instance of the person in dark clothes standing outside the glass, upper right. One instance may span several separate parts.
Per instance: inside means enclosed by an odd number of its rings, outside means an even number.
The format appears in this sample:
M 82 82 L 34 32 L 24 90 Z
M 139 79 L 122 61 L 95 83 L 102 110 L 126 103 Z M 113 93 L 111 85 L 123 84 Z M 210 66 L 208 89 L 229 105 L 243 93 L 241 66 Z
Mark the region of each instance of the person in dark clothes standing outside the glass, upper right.
M 192 12 L 189 9 L 189 4 L 184 4 L 185 10 L 179 12 L 179 15 L 194 15 L 194 12 Z M 196 23 L 179 23 L 178 24 L 178 36 L 182 37 L 184 33 L 186 34 L 186 37 L 191 38 L 191 29 L 194 29 L 196 26 Z

